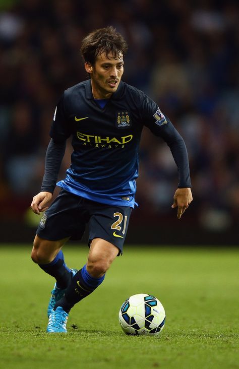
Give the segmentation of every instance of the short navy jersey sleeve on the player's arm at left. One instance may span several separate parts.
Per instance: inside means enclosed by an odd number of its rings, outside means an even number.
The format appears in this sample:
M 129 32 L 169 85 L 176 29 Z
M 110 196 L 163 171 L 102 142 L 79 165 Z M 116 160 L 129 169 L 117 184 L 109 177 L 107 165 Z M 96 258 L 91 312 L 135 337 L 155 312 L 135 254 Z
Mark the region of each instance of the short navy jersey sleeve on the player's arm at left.
M 55 107 L 50 137 L 55 142 L 63 142 L 71 136 L 71 133 L 71 124 L 66 114 L 64 93 Z

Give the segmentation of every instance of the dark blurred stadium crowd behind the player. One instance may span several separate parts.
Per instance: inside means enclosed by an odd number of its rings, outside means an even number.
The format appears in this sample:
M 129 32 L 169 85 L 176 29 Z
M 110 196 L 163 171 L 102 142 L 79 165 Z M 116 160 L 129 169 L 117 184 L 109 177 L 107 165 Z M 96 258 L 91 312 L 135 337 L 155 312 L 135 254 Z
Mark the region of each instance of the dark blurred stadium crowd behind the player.
M 167 146 L 145 130 L 127 241 L 238 243 L 238 3 L 180 0 L 0 0 L 0 234 L 31 242 L 54 107 L 86 79 L 83 36 L 113 25 L 129 43 L 124 81 L 145 91 L 186 141 L 194 201 L 171 209 L 177 173 Z M 69 166 L 67 147 L 60 176 Z

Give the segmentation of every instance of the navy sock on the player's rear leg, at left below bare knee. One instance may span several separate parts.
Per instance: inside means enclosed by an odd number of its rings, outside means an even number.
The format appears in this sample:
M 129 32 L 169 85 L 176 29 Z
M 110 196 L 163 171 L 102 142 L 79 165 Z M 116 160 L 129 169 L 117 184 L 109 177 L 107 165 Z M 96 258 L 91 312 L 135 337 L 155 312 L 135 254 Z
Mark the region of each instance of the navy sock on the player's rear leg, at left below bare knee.
M 56 286 L 61 289 L 67 288 L 72 280 L 71 270 L 66 266 L 62 250 L 58 252 L 54 260 L 48 264 L 38 264 L 47 274 L 56 279 Z

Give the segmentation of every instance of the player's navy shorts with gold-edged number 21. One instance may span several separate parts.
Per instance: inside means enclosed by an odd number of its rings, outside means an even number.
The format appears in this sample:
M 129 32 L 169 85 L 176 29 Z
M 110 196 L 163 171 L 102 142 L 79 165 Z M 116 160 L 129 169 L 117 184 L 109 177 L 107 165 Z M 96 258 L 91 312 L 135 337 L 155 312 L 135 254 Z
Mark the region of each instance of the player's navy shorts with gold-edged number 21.
M 102 238 L 123 251 L 132 208 L 101 204 L 62 190 L 43 214 L 36 234 L 57 241 L 70 237 L 81 239 L 89 223 L 89 245 Z

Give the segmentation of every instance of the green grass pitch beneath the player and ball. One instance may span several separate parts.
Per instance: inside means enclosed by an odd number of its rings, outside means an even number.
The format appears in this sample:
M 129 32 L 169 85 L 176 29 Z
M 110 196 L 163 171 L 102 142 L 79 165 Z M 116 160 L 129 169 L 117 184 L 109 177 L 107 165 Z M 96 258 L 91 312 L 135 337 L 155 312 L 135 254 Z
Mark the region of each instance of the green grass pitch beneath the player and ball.
M 53 279 L 30 260 L 31 245 L 2 245 L 0 367 L 5 369 L 239 368 L 239 275 L 236 249 L 127 247 L 104 283 L 70 313 L 68 334 L 47 334 Z M 66 245 L 69 267 L 88 248 Z M 159 336 L 127 336 L 123 301 L 155 295 L 166 324 Z M 78 328 L 77 328 L 78 327 Z

